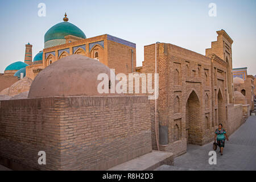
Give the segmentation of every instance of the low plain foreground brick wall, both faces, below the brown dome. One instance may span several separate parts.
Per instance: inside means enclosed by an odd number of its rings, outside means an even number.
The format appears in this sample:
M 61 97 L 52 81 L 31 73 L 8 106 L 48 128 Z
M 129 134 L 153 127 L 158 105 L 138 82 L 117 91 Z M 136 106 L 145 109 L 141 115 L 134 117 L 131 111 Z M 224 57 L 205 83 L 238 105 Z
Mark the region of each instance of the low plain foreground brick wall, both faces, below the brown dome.
M 36 98 L 0 106 L 0 163 L 14 169 L 104 170 L 152 150 L 147 97 Z M 45 166 L 38 164 L 41 150 Z

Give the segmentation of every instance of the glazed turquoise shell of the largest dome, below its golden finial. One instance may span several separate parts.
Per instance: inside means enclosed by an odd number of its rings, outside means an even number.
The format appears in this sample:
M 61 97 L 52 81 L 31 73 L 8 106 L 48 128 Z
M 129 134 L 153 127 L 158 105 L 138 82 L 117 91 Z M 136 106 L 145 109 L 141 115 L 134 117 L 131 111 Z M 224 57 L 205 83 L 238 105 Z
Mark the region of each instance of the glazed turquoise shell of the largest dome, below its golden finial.
M 73 35 L 82 39 L 86 39 L 84 32 L 75 24 L 69 22 L 61 22 L 51 27 L 44 35 L 44 43 L 49 40 L 65 39 L 65 36 Z

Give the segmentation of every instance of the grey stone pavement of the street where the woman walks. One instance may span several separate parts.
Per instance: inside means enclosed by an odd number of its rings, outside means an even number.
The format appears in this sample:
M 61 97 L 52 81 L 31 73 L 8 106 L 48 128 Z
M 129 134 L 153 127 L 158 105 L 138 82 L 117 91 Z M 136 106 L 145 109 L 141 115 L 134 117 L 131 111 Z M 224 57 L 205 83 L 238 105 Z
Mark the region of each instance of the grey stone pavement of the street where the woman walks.
M 217 164 L 210 165 L 212 143 L 188 145 L 187 153 L 174 159 L 174 166 L 162 165 L 158 171 L 180 170 L 256 170 L 256 116 L 249 117 L 225 142 L 223 155 L 218 153 Z

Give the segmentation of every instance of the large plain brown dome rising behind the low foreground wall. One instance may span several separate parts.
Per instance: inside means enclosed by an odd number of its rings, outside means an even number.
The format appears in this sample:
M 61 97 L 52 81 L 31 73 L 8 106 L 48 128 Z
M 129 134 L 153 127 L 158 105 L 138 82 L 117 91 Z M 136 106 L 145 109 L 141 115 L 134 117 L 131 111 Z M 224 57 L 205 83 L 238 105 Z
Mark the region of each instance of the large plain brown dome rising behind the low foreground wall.
M 106 95 L 97 90 L 100 73 L 106 73 L 110 79 L 110 68 L 97 60 L 82 55 L 64 57 L 35 77 L 28 98 Z

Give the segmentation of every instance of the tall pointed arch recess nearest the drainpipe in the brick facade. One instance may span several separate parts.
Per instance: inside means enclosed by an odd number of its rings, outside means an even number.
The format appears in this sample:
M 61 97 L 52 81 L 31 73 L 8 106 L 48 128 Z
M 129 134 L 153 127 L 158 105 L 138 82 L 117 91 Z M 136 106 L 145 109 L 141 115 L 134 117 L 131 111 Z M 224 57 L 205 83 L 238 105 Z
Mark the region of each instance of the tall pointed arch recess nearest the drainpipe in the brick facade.
M 186 137 L 187 144 L 201 144 L 201 109 L 195 91 L 189 95 L 186 104 Z

